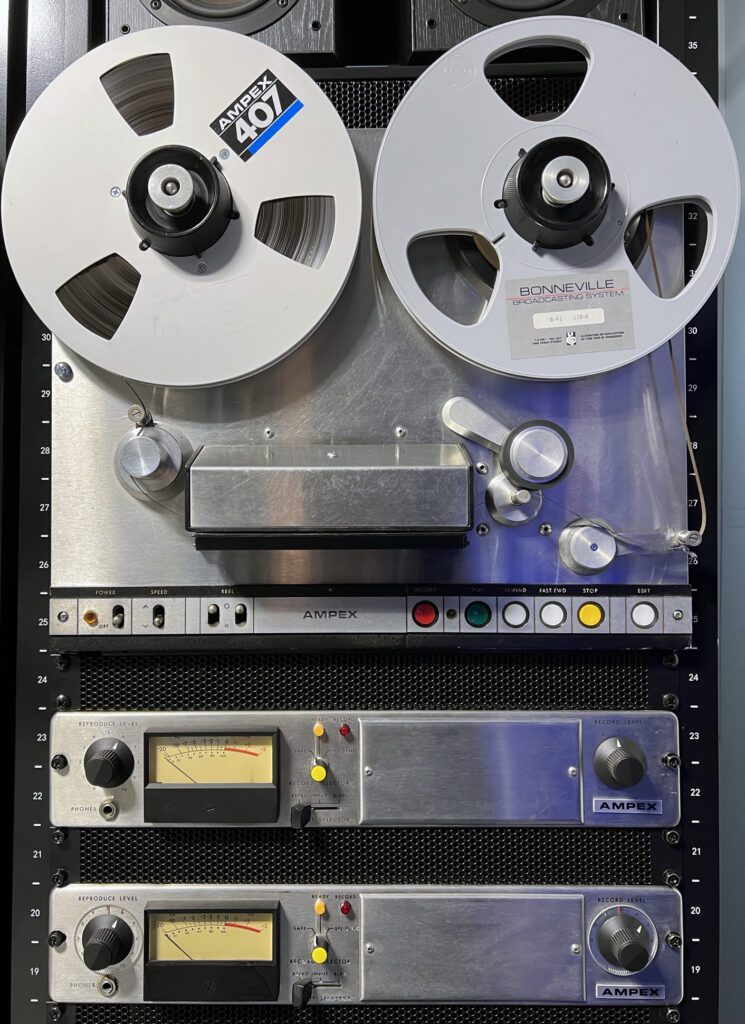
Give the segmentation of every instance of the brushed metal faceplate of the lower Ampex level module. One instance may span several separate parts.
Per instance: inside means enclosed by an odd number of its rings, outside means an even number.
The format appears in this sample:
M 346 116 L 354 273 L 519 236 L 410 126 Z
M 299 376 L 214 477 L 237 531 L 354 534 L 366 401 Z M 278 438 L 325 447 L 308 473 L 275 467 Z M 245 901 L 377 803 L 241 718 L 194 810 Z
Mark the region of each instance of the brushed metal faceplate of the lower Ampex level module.
M 315 913 L 315 901 L 326 913 Z M 341 912 L 342 901 L 349 913 Z M 664 942 L 683 933 L 683 902 L 667 888 L 80 886 L 55 889 L 50 928 L 65 941 L 49 950 L 50 994 L 59 1002 L 141 1002 L 149 910 L 220 911 L 278 904 L 278 1002 L 296 982 L 313 982 L 311 1005 L 365 1002 L 625 1002 L 602 983 L 683 997 L 683 956 Z M 644 911 L 660 939 L 652 962 L 619 978 L 590 949 L 591 924 L 614 905 Z M 117 991 L 105 996 L 80 955 L 81 919 L 96 907 L 125 916 L 133 953 L 108 969 Z M 311 963 L 315 935 L 328 942 L 324 965 Z M 660 1005 L 659 994 L 637 995 Z

